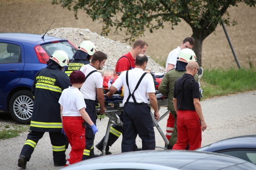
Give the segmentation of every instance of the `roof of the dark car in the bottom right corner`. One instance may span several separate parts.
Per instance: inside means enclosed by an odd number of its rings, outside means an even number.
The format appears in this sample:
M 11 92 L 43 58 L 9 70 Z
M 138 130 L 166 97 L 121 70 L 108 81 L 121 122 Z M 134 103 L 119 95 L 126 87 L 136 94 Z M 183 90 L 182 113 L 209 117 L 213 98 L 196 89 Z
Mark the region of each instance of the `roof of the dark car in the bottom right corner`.
M 256 135 L 237 136 L 199 148 L 198 151 L 221 151 L 226 149 L 256 149 Z

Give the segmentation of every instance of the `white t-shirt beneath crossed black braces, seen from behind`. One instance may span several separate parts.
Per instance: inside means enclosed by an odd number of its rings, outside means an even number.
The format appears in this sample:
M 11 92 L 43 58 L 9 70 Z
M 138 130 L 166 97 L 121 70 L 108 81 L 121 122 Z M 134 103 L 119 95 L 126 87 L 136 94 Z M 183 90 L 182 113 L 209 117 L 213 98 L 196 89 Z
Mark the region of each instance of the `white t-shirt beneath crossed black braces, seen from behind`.
M 132 70 L 129 70 L 128 72 L 128 82 L 129 82 L 129 88 L 131 91 L 131 94 L 133 94 L 133 91 L 143 75 L 144 71 L 141 68 L 133 68 Z M 124 95 L 123 95 L 123 105 L 126 102 L 128 95 L 129 95 L 129 89 L 126 84 L 126 71 L 124 71 L 113 83 L 113 86 L 117 88 L 118 90 L 124 86 Z M 137 103 L 148 103 L 148 94 L 147 93 L 155 93 L 154 88 L 154 80 L 150 74 L 146 74 L 137 90 L 134 92 L 134 97 L 136 99 Z M 133 102 L 132 96 L 129 99 L 129 102 Z M 134 103 L 134 102 L 133 102 Z

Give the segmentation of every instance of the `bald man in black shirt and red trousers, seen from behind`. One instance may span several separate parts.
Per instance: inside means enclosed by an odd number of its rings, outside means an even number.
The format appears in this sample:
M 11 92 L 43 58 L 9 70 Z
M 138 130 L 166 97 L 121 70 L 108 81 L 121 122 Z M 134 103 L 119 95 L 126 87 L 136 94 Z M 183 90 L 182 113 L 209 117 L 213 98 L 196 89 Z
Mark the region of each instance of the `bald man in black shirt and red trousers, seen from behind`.
M 189 143 L 189 150 L 201 147 L 202 130 L 207 127 L 199 98 L 199 83 L 195 82 L 198 64 L 190 61 L 186 74 L 178 78 L 174 85 L 174 108 L 177 113 L 177 143 L 173 150 L 184 150 Z M 188 88 L 189 86 L 189 88 Z

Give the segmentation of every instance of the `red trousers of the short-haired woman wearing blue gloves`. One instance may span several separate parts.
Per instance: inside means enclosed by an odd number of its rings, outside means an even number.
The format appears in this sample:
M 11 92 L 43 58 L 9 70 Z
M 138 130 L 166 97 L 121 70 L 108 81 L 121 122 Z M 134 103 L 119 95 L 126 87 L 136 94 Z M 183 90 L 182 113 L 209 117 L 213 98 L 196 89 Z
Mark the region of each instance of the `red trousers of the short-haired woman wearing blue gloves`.
M 82 161 L 85 146 L 85 127 L 82 127 L 82 116 L 63 116 L 62 124 L 71 145 L 70 159 L 66 164 Z

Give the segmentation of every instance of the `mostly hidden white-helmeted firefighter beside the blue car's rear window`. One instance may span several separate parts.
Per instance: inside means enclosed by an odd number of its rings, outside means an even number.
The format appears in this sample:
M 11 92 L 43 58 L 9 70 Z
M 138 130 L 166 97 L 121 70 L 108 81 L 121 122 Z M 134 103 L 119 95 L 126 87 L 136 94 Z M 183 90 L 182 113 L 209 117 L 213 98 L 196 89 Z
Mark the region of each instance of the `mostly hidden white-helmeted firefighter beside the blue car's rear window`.
M 90 60 L 95 51 L 96 47 L 92 41 L 82 41 L 80 47 L 78 47 L 73 56 L 74 59 L 70 62 L 69 66 L 66 67 L 65 73 L 70 76 L 72 71 L 79 70 L 81 66 L 90 64 Z

